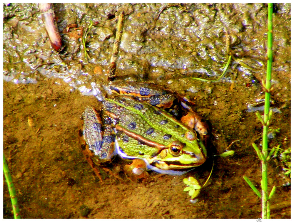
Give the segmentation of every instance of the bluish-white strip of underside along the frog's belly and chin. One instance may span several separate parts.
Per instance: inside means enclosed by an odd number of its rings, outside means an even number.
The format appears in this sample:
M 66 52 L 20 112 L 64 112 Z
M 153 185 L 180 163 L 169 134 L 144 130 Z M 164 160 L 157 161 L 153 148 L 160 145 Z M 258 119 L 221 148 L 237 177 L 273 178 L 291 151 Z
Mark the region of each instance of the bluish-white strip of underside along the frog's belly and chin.
M 160 173 L 160 174 L 182 175 L 182 174 L 185 174 L 185 173 L 189 172 L 190 170 L 194 169 L 194 168 L 191 168 L 191 169 L 184 170 L 184 171 L 183 170 L 182 171 L 177 171 L 177 170 L 159 169 L 156 166 L 150 165 L 149 162 L 147 161 L 147 159 L 145 159 L 145 158 L 131 157 L 131 156 L 128 156 L 127 154 L 121 152 L 121 150 L 119 149 L 119 144 L 118 144 L 117 138 L 115 138 L 114 144 L 115 144 L 114 145 L 114 147 L 115 147 L 114 148 L 114 154 L 115 155 L 119 155 L 123 159 L 142 159 L 146 163 L 146 168 L 147 169 L 153 170 L 153 171 L 155 171 L 157 173 Z

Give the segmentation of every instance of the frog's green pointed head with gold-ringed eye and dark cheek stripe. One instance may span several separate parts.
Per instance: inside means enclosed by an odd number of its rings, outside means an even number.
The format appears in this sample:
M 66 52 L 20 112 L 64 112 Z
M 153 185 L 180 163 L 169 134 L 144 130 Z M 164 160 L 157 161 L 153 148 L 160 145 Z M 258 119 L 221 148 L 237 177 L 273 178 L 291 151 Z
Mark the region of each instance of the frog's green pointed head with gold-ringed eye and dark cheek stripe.
M 200 166 L 206 161 L 206 149 L 201 140 L 188 143 L 174 141 L 148 160 L 162 170 L 180 170 Z

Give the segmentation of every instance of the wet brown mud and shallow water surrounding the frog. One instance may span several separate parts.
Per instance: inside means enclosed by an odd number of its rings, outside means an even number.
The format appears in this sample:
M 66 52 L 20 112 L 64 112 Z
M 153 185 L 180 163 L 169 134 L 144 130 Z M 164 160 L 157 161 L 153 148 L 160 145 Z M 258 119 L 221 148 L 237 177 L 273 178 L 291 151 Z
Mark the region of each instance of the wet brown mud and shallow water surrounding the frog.
M 93 21 L 87 61 L 81 41 L 69 34 L 62 35 L 66 52 L 52 51 L 37 5 L 4 5 L 4 154 L 22 218 L 260 218 L 261 201 L 243 176 L 260 189 L 260 162 L 251 143 L 260 144 L 262 125 L 247 110 L 264 98 L 260 81 L 266 70 L 253 72 L 232 62 L 220 81 L 203 83 L 188 77 L 216 79 L 222 73 L 227 61 L 225 30 L 236 56 L 266 63 L 267 6 L 177 4 L 154 22 L 165 6 L 54 4 L 60 32 L 70 23 L 85 31 Z M 123 184 L 104 175 L 102 184 L 78 147 L 79 117 L 88 104 L 99 106 L 93 95 L 104 95 L 107 85 L 117 22 L 108 20 L 122 10 L 126 16 L 118 78 L 157 83 L 190 97 L 211 126 L 213 153 L 240 140 L 230 147 L 233 157 L 215 159 L 211 179 L 196 203 L 183 191 L 183 178 L 194 176 L 203 184 L 211 159 L 182 176 L 151 172 L 147 183 Z M 280 112 L 270 127 L 281 129 L 269 146 L 288 149 L 290 4 L 277 5 L 273 22 L 272 107 Z M 126 163 L 116 158 L 112 164 L 121 174 Z M 279 155 L 268 166 L 269 187 L 277 186 L 272 218 L 290 218 L 290 178 L 282 167 Z M 4 186 L 4 218 L 12 217 L 10 211 Z

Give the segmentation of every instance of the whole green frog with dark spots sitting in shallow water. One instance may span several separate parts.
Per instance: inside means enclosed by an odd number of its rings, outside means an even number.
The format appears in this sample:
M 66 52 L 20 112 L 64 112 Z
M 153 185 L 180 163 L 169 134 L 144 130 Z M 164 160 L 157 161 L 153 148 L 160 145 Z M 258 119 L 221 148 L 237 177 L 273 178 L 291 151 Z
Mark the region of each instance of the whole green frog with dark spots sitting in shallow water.
M 145 167 L 132 168 L 134 174 L 146 168 L 181 175 L 206 161 L 206 123 L 187 99 L 179 100 L 185 113 L 179 118 L 168 112 L 176 110 L 172 109 L 176 97 L 168 90 L 134 82 L 112 83 L 109 88 L 116 95 L 105 98 L 101 110 L 89 106 L 81 116 L 80 135 L 83 149 L 94 161 L 88 159 L 91 165 L 119 155 L 145 163 Z

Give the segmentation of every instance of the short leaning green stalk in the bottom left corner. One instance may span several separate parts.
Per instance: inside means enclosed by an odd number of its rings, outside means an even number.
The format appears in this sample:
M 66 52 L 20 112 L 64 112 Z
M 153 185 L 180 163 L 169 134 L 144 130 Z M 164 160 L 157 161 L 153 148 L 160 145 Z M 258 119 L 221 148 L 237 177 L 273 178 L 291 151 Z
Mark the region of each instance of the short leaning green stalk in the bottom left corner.
M 13 209 L 13 215 L 14 215 L 15 219 L 18 219 L 18 218 L 20 218 L 19 207 L 18 207 L 18 204 L 17 204 L 17 199 L 16 199 L 14 185 L 12 183 L 12 178 L 11 178 L 11 175 L 9 173 L 9 169 L 8 169 L 7 164 L 6 164 L 6 160 L 5 160 L 4 155 L 3 155 L 3 171 L 4 171 L 6 183 L 7 183 L 7 186 L 8 186 L 9 194 L 10 194 L 10 199 L 11 199 L 12 209 Z

